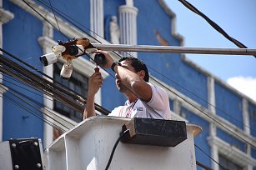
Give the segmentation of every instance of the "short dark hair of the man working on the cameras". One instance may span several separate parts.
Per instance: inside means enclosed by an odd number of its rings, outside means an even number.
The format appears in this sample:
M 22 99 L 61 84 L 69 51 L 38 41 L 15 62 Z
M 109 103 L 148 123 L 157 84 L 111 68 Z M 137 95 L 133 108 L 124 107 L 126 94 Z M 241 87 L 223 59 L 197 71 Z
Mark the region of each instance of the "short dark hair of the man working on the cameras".
M 148 67 L 146 66 L 146 64 L 143 61 L 139 60 L 136 57 L 122 57 L 121 59 L 119 59 L 118 62 L 122 62 L 124 60 L 128 60 L 131 63 L 131 66 L 134 67 L 135 72 L 139 72 L 139 71 L 143 70 L 145 72 L 145 76 L 144 76 L 143 80 L 145 82 L 148 82 L 148 80 L 149 80 Z

